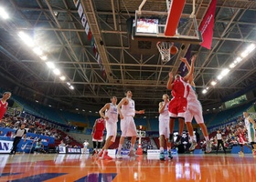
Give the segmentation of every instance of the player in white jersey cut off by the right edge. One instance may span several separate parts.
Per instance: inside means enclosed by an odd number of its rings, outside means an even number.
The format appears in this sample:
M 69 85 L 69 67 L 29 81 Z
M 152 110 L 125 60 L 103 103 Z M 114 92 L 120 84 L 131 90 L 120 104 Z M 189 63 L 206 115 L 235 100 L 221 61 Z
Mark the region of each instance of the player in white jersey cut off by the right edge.
M 244 124 L 247 129 L 248 141 L 251 143 L 251 147 L 253 148 L 252 154 L 256 156 L 256 133 L 255 133 L 255 121 L 249 116 L 247 112 L 243 112 L 244 116 Z

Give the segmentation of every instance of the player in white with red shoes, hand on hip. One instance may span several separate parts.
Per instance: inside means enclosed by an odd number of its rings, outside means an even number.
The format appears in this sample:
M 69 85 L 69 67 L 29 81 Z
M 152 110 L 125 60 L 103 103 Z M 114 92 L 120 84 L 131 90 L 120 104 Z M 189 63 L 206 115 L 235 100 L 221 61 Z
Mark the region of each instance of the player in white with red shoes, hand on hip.
M 104 159 L 112 159 L 112 157 L 108 156 L 108 148 L 114 143 L 116 133 L 117 133 L 117 122 L 118 122 L 118 113 L 117 113 L 117 98 L 116 96 L 112 96 L 111 103 L 107 103 L 105 106 L 101 108 L 99 111 L 102 118 L 106 121 L 106 129 L 107 136 L 104 147 L 98 157 L 102 157 Z M 105 115 L 104 115 L 105 112 Z M 102 156 L 101 156 L 102 155 Z

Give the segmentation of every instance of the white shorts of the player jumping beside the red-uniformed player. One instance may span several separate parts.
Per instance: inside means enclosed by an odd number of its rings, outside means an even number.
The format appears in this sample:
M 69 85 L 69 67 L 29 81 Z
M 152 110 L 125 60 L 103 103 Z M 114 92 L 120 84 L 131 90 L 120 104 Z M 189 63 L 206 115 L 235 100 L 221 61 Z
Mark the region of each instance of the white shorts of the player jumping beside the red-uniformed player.
M 192 122 L 193 117 L 195 117 L 197 124 L 204 123 L 202 106 L 198 100 L 189 100 L 187 102 L 185 122 Z

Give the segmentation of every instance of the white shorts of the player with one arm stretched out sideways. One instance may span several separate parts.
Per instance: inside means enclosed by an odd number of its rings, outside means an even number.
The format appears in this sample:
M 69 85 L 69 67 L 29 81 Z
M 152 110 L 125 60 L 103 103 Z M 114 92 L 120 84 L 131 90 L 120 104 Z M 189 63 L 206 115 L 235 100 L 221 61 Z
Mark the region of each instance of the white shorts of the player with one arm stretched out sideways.
M 137 136 L 137 129 L 134 123 L 133 116 L 124 116 L 120 122 L 122 135 L 121 136 Z

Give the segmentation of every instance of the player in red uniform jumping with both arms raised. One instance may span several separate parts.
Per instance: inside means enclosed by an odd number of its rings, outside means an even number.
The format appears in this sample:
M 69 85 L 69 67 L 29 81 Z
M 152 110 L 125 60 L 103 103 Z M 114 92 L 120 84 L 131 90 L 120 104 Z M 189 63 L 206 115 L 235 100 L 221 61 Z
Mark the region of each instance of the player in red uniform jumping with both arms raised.
M 181 77 L 179 75 L 173 76 L 173 73 L 169 73 L 169 79 L 166 88 L 172 90 L 172 100 L 170 101 L 168 110 L 170 116 L 170 136 L 169 141 L 173 142 L 175 119 L 178 118 L 179 129 L 178 136 L 176 138 L 175 145 L 178 146 L 181 143 L 181 136 L 184 128 L 184 118 L 187 110 L 187 96 L 189 93 L 189 86 L 187 84 L 188 78 L 192 75 L 191 70 L 187 76 Z

